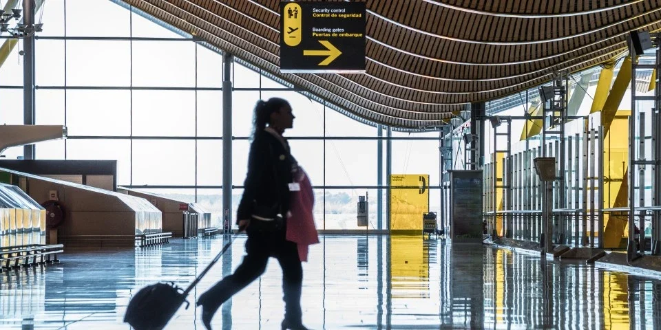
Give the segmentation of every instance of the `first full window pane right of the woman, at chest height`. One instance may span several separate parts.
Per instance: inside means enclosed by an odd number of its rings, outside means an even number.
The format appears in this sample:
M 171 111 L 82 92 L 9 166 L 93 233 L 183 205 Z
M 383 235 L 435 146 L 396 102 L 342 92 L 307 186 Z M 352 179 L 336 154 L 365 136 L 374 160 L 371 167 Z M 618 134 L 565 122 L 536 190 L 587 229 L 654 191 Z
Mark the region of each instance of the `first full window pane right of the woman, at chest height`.
M 376 185 L 376 141 L 326 141 L 326 186 Z

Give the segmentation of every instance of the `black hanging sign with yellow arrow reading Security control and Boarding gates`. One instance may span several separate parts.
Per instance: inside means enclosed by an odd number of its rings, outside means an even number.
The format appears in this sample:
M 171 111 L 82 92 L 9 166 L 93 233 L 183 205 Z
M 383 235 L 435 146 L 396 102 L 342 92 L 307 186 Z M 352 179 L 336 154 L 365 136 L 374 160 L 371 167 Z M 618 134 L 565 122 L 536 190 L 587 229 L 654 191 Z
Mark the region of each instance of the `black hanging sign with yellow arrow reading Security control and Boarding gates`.
M 280 71 L 365 72 L 364 2 L 280 2 Z

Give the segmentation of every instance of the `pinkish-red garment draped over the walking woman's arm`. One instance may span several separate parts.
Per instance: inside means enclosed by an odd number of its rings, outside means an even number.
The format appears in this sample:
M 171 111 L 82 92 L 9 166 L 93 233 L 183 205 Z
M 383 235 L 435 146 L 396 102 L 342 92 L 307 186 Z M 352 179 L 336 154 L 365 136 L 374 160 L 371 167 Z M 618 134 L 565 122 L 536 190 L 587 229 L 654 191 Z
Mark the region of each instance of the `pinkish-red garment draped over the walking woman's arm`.
M 308 246 L 319 243 L 312 212 L 315 206 L 315 193 L 303 168 L 299 167 L 295 181 L 300 185 L 300 191 L 291 192 L 286 239 L 296 243 L 301 261 L 308 261 Z

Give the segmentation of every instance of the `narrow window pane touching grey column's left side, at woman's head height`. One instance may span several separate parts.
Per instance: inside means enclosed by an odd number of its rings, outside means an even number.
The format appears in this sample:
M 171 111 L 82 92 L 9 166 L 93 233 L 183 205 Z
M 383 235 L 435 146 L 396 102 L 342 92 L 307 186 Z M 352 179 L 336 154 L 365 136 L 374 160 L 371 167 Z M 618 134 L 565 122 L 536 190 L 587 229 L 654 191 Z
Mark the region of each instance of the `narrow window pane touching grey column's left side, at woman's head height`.
M 222 91 L 198 91 L 198 136 L 222 136 Z

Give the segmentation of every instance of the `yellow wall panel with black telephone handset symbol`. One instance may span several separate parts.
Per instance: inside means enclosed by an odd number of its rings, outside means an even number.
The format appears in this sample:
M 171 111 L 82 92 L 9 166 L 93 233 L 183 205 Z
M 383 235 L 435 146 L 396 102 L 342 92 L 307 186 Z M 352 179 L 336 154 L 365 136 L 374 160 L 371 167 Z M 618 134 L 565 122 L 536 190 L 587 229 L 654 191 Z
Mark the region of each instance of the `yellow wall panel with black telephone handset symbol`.
M 390 230 L 422 232 L 424 212 L 429 212 L 429 175 L 391 175 Z

